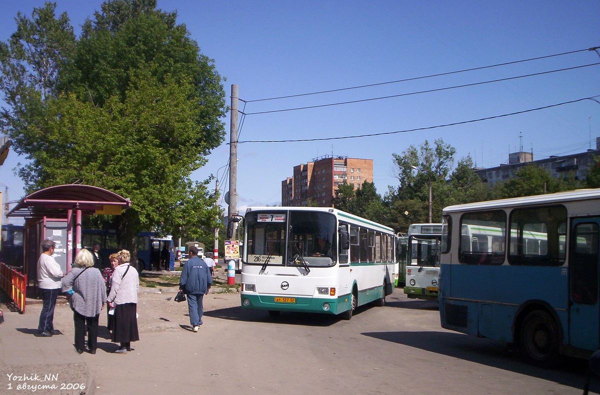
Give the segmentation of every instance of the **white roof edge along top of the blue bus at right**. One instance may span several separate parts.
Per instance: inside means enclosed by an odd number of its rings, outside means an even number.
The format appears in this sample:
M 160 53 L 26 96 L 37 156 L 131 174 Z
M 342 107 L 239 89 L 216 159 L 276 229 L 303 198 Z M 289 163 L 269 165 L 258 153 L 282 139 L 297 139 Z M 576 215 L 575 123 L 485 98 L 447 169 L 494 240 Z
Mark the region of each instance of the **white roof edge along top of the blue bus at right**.
M 577 189 L 566 192 L 538 194 L 535 196 L 511 197 L 496 201 L 457 204 L 444 208 L 443 214 L 460 213 L 463 211 L 481 210 L 485 208 L 518 207 L 537 204 L 551 204 L 560 202 L 586 201 L 600 199 L 600 188 Z

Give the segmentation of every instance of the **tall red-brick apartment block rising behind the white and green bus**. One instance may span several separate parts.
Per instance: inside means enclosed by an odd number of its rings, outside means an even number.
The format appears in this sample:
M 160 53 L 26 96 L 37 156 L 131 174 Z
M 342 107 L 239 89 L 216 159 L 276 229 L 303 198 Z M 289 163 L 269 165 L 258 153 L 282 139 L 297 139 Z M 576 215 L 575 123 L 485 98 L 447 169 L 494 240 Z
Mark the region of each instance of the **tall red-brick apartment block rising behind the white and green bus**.
M 355 190 L 365 181 L 373 182 L 373 159 L 325 155 L 294 166 L 293 177 L 281 181 L 282 206 L 332 207 L 338 185 L 346 182 Z

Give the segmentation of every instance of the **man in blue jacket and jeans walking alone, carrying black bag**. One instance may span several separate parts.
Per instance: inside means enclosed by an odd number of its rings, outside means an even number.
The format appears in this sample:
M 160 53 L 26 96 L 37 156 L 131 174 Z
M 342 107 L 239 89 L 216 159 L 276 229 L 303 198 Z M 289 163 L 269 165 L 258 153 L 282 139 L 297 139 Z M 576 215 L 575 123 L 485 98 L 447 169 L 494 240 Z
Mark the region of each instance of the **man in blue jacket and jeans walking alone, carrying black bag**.
M 212 276 L 206 262 L 198 258 L 196 247 L 190 247 L 188 254 L 190 259 L 185 262 L 181 271 L 179 289 L 182 289 L 187 295 L 190 324 L 194 328 L 193 331 L 197 332 L 198 327 L 202 325 L 202 315 L 204 314 L 202 298 L 211 289 Z

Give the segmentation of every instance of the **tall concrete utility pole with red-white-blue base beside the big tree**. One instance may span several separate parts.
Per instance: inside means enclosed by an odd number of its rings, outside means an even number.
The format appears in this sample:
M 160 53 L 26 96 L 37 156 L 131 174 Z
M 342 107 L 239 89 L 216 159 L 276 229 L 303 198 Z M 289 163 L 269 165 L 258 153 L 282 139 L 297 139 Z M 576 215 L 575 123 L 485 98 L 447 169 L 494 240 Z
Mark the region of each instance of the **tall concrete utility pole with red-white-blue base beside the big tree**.
M 231 122 L 229 125 L 229 220 L 238 214 L 238 85 L 231 86 Z M 234 224 L 236 226 L 237 224 Z M 230 240 L 235 240 L 235 227 Z M 227 262 L 227 284 L 235 284 L 235 261 Z

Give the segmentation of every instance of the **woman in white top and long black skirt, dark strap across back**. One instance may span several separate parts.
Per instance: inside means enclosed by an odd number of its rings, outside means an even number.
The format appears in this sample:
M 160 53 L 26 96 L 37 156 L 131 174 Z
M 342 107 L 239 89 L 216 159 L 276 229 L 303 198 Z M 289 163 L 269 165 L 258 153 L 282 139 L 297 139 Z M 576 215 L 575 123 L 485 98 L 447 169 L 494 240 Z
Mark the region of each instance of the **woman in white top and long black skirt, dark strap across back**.
M 130 253 L 118 252 L 119 265 L 110 281 L 109 306 L 115 309 L 112 325 L 112 341 L 121 346 L 115 352 L 126 354 L 131 351 L 131 342 L 140 340 L 137 330 L 137 291 L 140 282 L 137 270 L 130 265 Z

